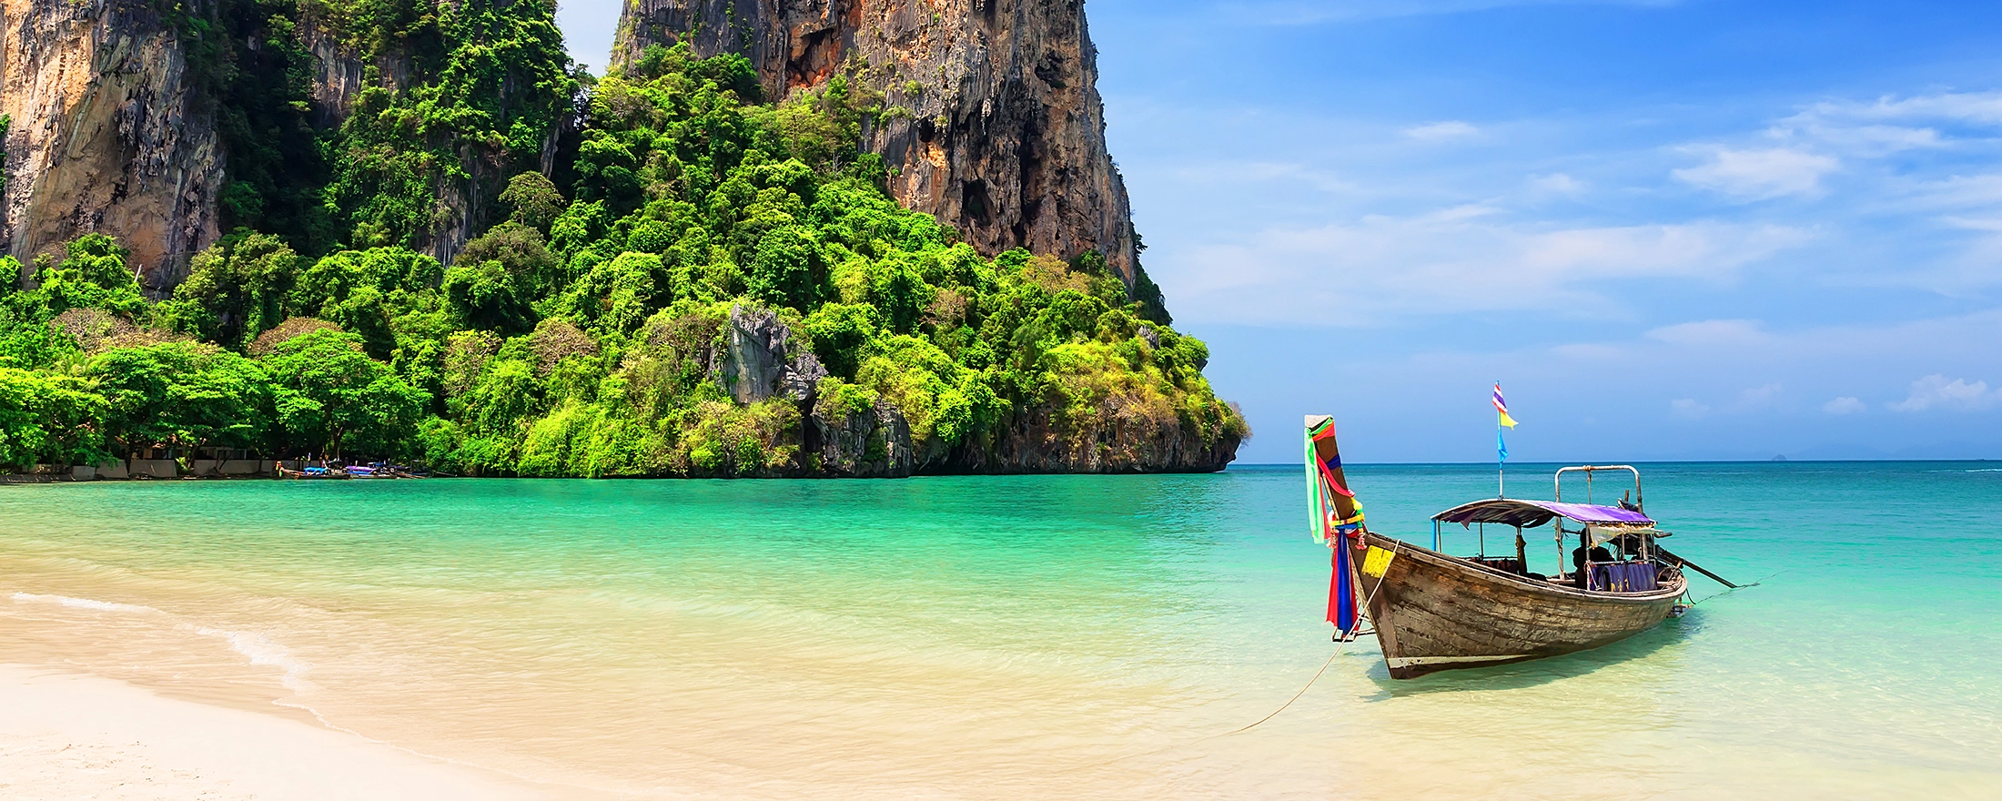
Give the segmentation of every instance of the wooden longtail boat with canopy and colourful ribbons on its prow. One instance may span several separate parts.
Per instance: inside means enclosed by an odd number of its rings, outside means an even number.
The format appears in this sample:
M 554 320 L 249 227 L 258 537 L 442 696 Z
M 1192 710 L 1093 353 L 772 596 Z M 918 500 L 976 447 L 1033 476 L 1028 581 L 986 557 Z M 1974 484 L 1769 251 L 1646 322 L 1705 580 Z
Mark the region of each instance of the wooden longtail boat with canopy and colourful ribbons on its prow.
M 1568 467 L 1558 479 L 1562 493 L 1566 473 L 1630 471 L 1634 505 L 1475 501 L 1433 515 L 1433 547 L 1425 549 L 1363 525 L 1361 503 L 1341 473 L 1331 419 L 1307 417 L 1307 451 L 1315 535 L 1335 553 L 1329 621 L 1337 637 L 1355 637 L 1359 613 L 1367 615 L 1391 679 L 1596 649 L 1686 609 L 1678 599 L 1688 581 L 1680 561 L 1654 547 L 1668 533 L 1640 509 L 1640 471 L 1632 467 Z M 1439 553 L 1439 527 L 1449 523 L 1479 525 L 1483 553 Z M 1512 553 L 1485 555 L 1487 525 L 1514 531 Z M 1552 525 L 1560 565 L 1572 563 L 1572 573 L 1528 571 L 1522 531 L 1542 525 Z M 1568 535 L 1576 535 L 1576 551 L 1568 549 Z

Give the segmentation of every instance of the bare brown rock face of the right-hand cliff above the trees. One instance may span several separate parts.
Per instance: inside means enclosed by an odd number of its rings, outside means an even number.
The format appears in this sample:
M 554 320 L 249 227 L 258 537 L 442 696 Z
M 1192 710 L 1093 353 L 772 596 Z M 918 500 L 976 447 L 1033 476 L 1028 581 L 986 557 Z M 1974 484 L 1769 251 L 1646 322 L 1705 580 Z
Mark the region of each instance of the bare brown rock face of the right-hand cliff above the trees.
M 865 144 L 897 200 L 981 252 L 1097 250 L 1133 284 L 1081 0 L 627 0 L 613 62 L 685 38 L 751 58 L 771 98 L 835 74 L 869 84 L 889 112 Z

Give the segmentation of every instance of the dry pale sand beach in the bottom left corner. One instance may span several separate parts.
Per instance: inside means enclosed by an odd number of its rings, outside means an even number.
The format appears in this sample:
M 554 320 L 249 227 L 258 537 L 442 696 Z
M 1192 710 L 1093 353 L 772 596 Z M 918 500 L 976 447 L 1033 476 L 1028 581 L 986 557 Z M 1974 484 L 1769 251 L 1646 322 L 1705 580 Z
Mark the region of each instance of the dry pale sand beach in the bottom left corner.
M 278 715 L 0 665 L 0 797 L 414 801 L 551 793 Z

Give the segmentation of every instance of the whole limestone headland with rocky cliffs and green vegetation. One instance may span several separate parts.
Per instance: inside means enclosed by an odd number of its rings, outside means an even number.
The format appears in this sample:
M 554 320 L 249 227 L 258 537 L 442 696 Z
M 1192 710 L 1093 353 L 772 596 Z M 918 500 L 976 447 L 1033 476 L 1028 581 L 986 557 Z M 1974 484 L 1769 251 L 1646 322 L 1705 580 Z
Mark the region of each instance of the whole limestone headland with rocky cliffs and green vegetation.
M 0 473 L 1233 459 L 1243 415 L 1139 266 L 1081 10 L 801 50 L 767 42 L 797 20 L 657 6 L 603 78 L 533 2 L 50 22 L 198 46 L 36 84 L 64 112 L 8 140 Z M 1001 34 L 1041 50 L 967 60 Z

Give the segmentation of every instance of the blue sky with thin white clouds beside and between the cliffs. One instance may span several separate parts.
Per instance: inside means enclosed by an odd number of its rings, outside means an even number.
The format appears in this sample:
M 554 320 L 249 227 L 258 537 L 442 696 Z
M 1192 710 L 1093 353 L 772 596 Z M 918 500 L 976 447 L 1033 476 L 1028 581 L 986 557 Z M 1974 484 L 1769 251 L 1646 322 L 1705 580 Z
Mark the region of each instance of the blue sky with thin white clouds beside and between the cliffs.
M 1087 14 L 1241 461 L 2002 459 L 2002 4 Z

